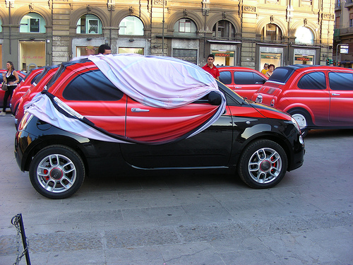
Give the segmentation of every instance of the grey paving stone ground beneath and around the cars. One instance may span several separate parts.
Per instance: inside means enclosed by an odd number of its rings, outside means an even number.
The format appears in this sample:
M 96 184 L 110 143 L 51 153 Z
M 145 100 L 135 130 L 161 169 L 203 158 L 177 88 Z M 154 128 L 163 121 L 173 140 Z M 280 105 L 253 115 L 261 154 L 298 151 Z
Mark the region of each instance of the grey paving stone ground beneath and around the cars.
M 352 131 L 310 131 L 304 165 L 273 189 L 220 174 L 97 176 L 51 200 L 18 169 L 13 122 L 0 117 L 0 264 L 16 261 L 17 213 L 31 264 L 353 264 Z

